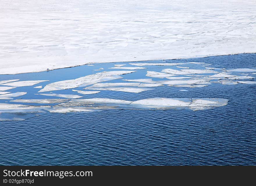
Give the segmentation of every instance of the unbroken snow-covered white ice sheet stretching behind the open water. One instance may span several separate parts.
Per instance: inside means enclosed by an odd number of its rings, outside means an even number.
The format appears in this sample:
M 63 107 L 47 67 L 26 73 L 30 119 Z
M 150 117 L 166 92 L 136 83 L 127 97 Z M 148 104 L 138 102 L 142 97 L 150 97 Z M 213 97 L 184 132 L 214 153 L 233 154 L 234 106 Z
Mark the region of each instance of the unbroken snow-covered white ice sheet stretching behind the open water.
M 0 2 L 0 74 L 256 52 L 255 0 Z

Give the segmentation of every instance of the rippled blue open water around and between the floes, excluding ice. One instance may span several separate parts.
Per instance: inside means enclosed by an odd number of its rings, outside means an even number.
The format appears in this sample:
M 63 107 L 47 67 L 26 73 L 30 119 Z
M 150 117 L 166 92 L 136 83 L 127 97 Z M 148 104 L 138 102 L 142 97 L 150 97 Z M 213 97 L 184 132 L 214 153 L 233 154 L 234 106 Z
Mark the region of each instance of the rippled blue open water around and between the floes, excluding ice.
M 211 67 L 226 69 L 255 68 L 256 54 L 166 61 L 173 63 L 205 62 L 212 63 Z M 161 63 L 162 61 L 154 62 Z M 100 67 L 104 70 L 118 70 L 108 69 L 114 64 L 120 63 L 0 75 L 0 80 L 50 80 L 32 87 L 44 86 L 50 82 L 64 80 L 64 77 L 74 79 L 92 74 L 93 69 Z M 160 72 L 163 68 L 173 67 L 147 66 L 147 69 L 122 76 L 124 79 L 150 78 L 145 76 L 147 70 Z M 93 73 L 104 70 L 93 71 Z M 250 74 L 250 76 L 255 76 L 255 74 Z M 125 81 L 118 79 L 111 82 Z M 256 85 L 213 83 L 203 88 L 167 86 L 154 88 L 154 90 L 138 94 L 101 91 L 97 95 L 86 95 L 86 98 L 102 97 L 134 101 L 149 97 L 209 97 L 226 98 L 229 102 L 223 107 L 201 111 L 103 110 L 89 113 L 47 113 L 25 121 L 3 121 L 0 123 L 0 164 L 256 165 Z M 81 88 L 75 89 L 81 90 Z M 181 92 L 180 89 L 189 91 Z M 15 88 L 15 92 L 28 92 L 21 96 L 23 99 L 49 98 L 34 95 L 38 90 L 40 89 Z M 59 90 L 54 93 L 76 94 L 72 90 Z M 1 100 L 1 103 L 6 103 L 6 101 L 8 102 L 8 100 Z

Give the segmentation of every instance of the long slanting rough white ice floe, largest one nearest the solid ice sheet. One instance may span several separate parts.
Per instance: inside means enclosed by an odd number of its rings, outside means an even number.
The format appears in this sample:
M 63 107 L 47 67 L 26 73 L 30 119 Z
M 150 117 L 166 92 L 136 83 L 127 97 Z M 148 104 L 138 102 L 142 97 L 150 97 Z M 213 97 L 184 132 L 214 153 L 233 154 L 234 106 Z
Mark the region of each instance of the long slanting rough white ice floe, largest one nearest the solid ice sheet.
M 57 81 L 46 85 L 43 89 L 38 92 L 47 92 L 52 90 L 62 90 L 69 88 L 76 88 L 86 85 L 92 85 L 102 81 L 109 81 L 114 79 L 122 78 L 121 74 L 129 74 L 136 71 L 109 71 L 109 72 L 99 72 L 97 74 L 91 74 L 88 76 L 80 77 L 77 79 L 70 79 L 65 81 Z

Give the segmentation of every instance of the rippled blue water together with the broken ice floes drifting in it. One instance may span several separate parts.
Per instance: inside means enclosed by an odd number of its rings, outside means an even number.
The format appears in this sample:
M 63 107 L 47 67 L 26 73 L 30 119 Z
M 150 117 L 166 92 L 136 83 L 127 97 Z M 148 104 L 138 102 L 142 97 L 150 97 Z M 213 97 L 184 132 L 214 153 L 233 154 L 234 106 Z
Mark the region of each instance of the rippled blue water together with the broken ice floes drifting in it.
M 15 112 L 14 107 L 19 107 L 21 112 L 28 107 L 33 111 L 26 115 L 16 113 L 20 118 L 29 118 L 24 121 L 1 121 L 0 164 L 256 165 L 256 85 L 253 84 L 256 82 L 256 54 L 134 62 L 158 65 L 129 63 L 122 63 L 125 64 L 122 67 L 144 68 L 113 69 L 120 67 L 120 63 L 101 63 L 38 73 L 0 75 L 0 87 L 15 86 L 1 91 L 7 92 L 0 94 L 1 109 L 9 111 L 0 116 L 9 117 L 11 112 Z M 172 66 L 159 63 L 184 64 Z M 107 76 L 111 77 L 109 81 L 95 84 L 93 79 L 94 85 L 89 85 L 89 75 L 104 71 L 111 72 Z M 112 71 L 136 72 L 113 75 Z M 200 74 L 202 72 L 205 74 Z M 79 79 L 79 83 L 87 82 L 86 85 L 79 87 L 73 83 L 72 79 L 85 76 Z M 100 78 L 106 78 L 105 73 Z M 191 84 L 191 81 L 194 83 Z M 38 92 L 45 87 L 56 88 L 55 82 L 59 82 L 58 90 Z M 64 89 L 64 85 L 70 86 L 69 89 Z M 90 86 L 93 89 L 122 86 L 123 90 L 91 90 Z M 126 92 L 129 87 L 150 90 Z M 90 94 L 84 94 L 87 91 Z M 95 101 L 95 98 L 99 99 Z M 151 98 L 162 99 L 152 101 Z M 228 100 L 228 103 L 205 110 L 205 105 L 208 108 L 215 102 L 204 98 L 219 99 L 218 103 Z M 91 105 L 90 108 L 84 108 L 85 101 L 82 105 L 77 104 L 85 99 L 86 107 Z M 146 101 L 138 101 L 144 99 Z M 183 107 L 195 107 L 197 111 L 166 109 L 167 103 L 167 106 L 180 106 L 180 101 Z M 152 109 L 155 103 L 157 108 Z M 132 104 L 133 107 L 136 105 L 136 109 L 130 108 Z M 37 110 L 39 106 L 41 109 Z

